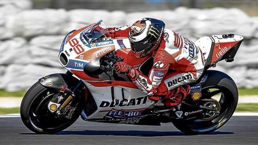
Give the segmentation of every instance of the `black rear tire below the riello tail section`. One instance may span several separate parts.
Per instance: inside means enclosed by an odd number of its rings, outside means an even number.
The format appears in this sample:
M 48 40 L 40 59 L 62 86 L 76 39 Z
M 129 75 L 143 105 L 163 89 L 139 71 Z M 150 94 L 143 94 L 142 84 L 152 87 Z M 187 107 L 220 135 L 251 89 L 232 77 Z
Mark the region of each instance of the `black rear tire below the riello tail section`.
M 174 126 L 186 134 L 207 134 L 222 127 L 231 118 L 237 107 L 238 90 L 235 82 L 227 74 L 209 70 L 208 78 L 202 85 L 202 99 L 212 96 L 205 95 L 210 88 L 217 88 L 221 91 L 220 105 L 221 112 L 212 120 L 173 120 Z M 211 94 L 211 93 L 210 93 Z

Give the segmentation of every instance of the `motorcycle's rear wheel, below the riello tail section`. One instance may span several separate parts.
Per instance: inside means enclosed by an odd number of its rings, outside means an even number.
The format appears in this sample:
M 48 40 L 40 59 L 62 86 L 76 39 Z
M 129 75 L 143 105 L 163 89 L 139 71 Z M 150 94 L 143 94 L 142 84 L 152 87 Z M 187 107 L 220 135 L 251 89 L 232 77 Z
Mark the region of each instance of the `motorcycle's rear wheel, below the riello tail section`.
M 225 74 L 223 76 L 225 77 Z M 208 78 L 202 88 L 201 105 L 217 107 L 219 114 L 212 117 L 211 113 L 211 117 L 206 115 L 197 120 L 174 120 L 173 124 L 177 129 L 186 134 L 207 134 L 219 129 L 230 119 L 237 107 L 238 91 L 234 81 L 226 76 L 226 78 L 217 76 L 217 83 L 209 81 L 212 78 Z

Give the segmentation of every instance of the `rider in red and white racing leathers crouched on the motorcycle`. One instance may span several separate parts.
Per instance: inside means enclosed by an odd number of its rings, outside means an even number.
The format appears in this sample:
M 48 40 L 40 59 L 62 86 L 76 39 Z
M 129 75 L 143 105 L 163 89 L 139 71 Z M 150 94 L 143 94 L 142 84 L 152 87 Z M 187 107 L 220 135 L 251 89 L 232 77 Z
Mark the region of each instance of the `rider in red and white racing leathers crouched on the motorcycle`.
M 108 28 L 107 36 L 129 37 L 135 60 L 153 57 L 148 76 L 125 62 L 117 62 L 115 69 L 127 74 L 150 100 L 162 99 L 166 107 L 173 108 L 189 94 L 190 86 L 186 84 L 196 81 L 203 73 L 204 60 L 194 42 L 164 28 L 161 20 L 143 18 L 132 26 Z

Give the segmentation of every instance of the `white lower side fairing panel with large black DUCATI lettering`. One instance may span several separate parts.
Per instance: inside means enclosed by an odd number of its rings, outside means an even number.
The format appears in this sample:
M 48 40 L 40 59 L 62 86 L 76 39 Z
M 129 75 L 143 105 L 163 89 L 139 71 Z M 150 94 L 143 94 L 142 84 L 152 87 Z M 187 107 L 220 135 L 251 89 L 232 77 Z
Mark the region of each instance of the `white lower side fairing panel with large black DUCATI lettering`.
M 88 118 L 103 118 L 112 108 L 118 110 L 130 110 L 130 109 L 142 109 L 148 108 L 154 104 L 153 101 L 149 100 L 147 95 L 142 93 L 139 89 L 135 88 L 128 88 L 123 86 L 113 86 L 114 88 L 114 102 L 112 103 L 112 95 L 111 95 L 111 86 L 106 87 L 95 87 L 87 82 L 84 81 L 87 88 L 91 92 L 96 105 L 97 110 L 88 116 Z M 124 92 L 124 100 L 122 95 L 122 88 Z M 122 101 L 122 103 L 121 103 Z M 113 106 L 112 106 L 113 105 Z M 122 106 L 120 106 L 122 105 Z

